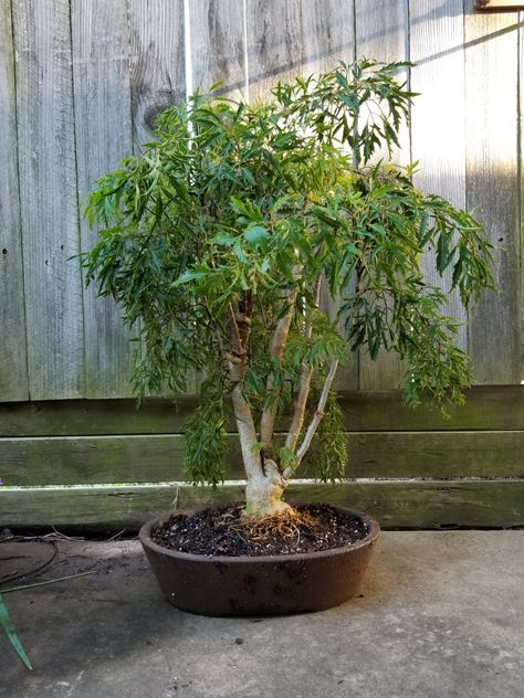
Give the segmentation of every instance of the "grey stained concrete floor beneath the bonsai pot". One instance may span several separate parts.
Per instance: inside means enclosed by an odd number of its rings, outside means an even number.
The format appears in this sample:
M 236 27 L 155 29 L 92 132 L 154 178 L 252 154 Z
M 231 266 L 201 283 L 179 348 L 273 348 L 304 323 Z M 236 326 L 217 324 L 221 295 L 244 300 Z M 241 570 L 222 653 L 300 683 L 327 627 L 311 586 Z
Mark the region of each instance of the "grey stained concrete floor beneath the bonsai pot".
M 382 532 L 360 596 L 262 620 L 171 607 L 136 541 L 61 542 L 40 580 L 96 573 L 6 594 L 34 670 L 0 633 L 0 696 L 522 698 L 523 542 L 524 531 Z M 12 558 L 1 577 L 49 552 L 0 544 Z

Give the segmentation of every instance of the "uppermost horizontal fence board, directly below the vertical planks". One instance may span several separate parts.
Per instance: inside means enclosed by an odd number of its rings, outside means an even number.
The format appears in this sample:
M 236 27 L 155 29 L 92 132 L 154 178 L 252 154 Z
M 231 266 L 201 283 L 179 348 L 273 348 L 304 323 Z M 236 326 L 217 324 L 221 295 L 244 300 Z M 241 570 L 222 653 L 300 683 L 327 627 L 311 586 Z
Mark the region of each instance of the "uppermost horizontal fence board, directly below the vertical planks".
M 524 429 L 524 385 L 475 387 L 444 420 L 438 411 L 402 405 L 398 391 L 349 391 L 340 395 L 348 431 L 458 431 Z M 67 400 L 0 403 L 1 436 L 170 434 L 184 431 L 195 398 Z

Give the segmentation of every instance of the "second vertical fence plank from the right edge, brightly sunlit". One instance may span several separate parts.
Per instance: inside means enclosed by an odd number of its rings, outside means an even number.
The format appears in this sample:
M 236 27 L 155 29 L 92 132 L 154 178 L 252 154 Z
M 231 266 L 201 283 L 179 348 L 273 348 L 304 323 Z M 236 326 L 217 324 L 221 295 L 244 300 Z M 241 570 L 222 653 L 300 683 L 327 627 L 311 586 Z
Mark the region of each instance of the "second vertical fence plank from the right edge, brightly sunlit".
M 410 0 L 412 158 L 420 160 L 415 181 L 422 191 L 439 193 L 465 208 L 464 38 L 462 0 Z M 450 106 L 452 105 L 452 108 Z M 425 276 L 448 294 L 443 308 L 460 324 L 457 346 L 468 349 L 468 314 L 458 289 L 450 290 L 451 269 L 443 278 L 434 271 L 434 253 L 427 254 Z

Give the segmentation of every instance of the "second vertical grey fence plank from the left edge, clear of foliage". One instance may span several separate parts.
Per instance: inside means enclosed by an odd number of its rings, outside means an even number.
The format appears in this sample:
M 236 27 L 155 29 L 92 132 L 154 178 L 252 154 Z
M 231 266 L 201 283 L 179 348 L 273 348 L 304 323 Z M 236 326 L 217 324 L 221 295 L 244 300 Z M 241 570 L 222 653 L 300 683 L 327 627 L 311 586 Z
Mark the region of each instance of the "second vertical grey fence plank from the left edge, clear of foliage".
M 84 327 L 67 0 L 13 3 L 32 399 L 84 394 Z

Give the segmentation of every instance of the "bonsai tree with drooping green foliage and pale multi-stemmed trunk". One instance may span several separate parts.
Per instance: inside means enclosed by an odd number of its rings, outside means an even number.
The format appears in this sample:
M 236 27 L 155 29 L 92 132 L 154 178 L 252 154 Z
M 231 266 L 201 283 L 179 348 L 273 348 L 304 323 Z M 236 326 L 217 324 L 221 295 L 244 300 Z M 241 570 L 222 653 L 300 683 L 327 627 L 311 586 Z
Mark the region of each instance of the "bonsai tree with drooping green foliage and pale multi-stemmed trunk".
M 377 161 L 409 117 L 402 66 L 342 63 L 256 105 L 196 94 L 87 197 L 102 230 L 86 279 L 139 325 L 136 392 L 180 393 L 197 372 L 187 472 L 223 479 L 234 415 L 247 515 L 289 509 L 282 495 L 311 447 L 322 478 L 343 476 L 333 380 L 352 352 L 397 352 L 413 405 L 446 409 L 469 384 L 421 258 L 433 251 L 438 273 L 452 269 L 468 306 L 492 285 L 490 244 L 472 215 L 413 186 L 413 166 Z

